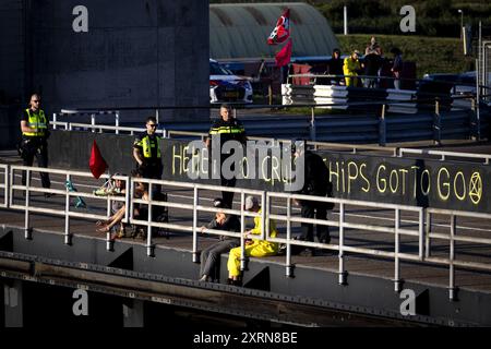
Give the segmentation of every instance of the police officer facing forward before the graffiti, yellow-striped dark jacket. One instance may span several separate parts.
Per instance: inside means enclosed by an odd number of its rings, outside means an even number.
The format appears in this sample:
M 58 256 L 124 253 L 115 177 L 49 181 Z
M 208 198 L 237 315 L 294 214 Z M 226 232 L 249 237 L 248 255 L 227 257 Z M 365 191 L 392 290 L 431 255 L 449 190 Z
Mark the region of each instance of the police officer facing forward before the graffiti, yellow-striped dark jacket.
M 221 154 L 221 147 L 227 141 L 238 141 L 242 143 L 242 145 L 246 145 L 247 135 L 242 122 L 233 118 L 230 106 L 226 104 L 220 106 L 220 119 L 215 121 L 209 129 L 208 137 L 206 139 L 206 146 L 208 149 L 211 145 L 214 144 L 212 142 L 213 137 L 219 137 L 219 149 L 213 148 L 212 152 L 218 152 L 220 154 L 220 184 L 223 186 L 236 186 L 236 177 L 233 176 L 232 178 L 227 179 L 223 173 L 221 165 L 230 155 Z M 236 170 L 233 166 L 231 166 L 231 170 Z M 221 197 L 224 205 L 226 207 L 231 207 L 233 202 L 233 193 L 223 191 Z

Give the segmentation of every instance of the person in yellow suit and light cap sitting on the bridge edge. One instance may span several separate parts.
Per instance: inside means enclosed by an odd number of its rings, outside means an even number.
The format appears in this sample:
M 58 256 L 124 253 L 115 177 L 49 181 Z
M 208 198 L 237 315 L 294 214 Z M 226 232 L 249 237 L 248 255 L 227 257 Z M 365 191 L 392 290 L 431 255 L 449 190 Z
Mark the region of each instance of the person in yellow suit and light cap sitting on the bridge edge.
M 259 205 L 258 198 L 254 196 L 248 196 L 246 198 L 244 209 L 261 214 L 261 206 Z M 244 238 L 249 238 L 251 234 L 261 234 L 261 216 L 254 217 L 254 228 L 252 230 L 246 231 Z M 276 238 L 276 224 L 272 219 L 270 219 L 270 237 Z M 246 244 L 244 255 L 253 257 L 264 257 L 278 254 L 278 250 L 279 245 L 276 242 L 270 242 L 265 240 L 251 240 Z M 232 285 L 238 285 L 238 280 L 240 279 L 240 246 L 230 250 L 227 267 L 229 282 L 231 282 Z

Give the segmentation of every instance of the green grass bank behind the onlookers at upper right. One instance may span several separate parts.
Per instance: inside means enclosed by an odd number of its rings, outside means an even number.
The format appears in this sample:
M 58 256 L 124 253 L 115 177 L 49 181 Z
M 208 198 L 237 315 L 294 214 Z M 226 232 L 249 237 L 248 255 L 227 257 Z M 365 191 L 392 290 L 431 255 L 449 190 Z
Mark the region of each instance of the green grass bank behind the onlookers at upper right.
M 336 35 L 340 50 L 348 55 L 357 49 L 364 52 L 371 34 Z M 391 48 L 403 51 L 403 59 L 416 62 L 417 77 L 426 73 L 459 73 L 475 69 L 474 58 L 465 57 L 458 38 L 423 37 L 412 35 L 374 35 L 385 56 L 392 57 Z

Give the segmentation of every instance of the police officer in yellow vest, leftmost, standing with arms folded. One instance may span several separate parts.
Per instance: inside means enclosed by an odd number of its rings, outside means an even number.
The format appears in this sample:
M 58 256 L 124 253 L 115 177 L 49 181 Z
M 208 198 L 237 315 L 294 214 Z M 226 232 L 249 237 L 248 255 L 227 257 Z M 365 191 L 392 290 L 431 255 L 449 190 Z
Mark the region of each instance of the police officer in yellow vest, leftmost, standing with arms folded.
M 31 96 L 29 108 L 25 109 L 21 117 L 21 155 L 24 166 L 33 166 L 34 157 L 37 159 L 38 167 L 48 167 L 48 120 L 45 112 L 40 109 L 40 96 L 34 94 Z M 43 188 L 50 188 L 49 174 L 40 172 Z M 26 173 L 22 172 L 22 184 L 26 184 Z M 45 197 L 51 194 L 45 193 Z

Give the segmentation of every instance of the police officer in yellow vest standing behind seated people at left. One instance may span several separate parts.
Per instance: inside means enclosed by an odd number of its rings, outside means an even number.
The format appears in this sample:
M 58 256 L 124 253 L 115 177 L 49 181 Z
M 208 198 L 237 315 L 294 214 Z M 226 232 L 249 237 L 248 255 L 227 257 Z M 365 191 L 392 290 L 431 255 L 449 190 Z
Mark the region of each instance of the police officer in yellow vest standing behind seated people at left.
M 140 134 L 133 143 L 133 157 L 136 167 L 141 170 L 143 178 L 161 179 L 164 166 L 161 164 L 160 137 L 155 133 L 157 119 L 146 119 L 146 132 Z M 154 185 L 160 191 L 160 185 Z

